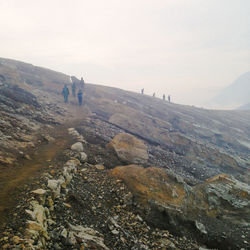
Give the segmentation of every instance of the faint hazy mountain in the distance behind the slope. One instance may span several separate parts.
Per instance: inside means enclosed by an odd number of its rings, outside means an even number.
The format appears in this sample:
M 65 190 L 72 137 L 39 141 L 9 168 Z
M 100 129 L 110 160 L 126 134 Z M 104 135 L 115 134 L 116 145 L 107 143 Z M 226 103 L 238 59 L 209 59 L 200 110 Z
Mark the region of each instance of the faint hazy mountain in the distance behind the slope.
M 231 85 L 222 89 L 220 93 L 208 103 L 210 107 L 221 109 L 245 109 L 250 103 L 250 72 L 238 77 Z

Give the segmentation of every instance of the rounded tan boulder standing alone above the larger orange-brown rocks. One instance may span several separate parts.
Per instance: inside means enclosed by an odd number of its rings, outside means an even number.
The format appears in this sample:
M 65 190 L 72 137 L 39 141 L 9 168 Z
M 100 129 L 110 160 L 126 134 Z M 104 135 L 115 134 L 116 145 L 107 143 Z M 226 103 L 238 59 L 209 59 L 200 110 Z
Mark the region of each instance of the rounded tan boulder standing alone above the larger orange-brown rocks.
M 108 144 L 118 157 L 127 163 L 145 163 L 148 160 L 147 146 L 135 136 L 121 133 Z

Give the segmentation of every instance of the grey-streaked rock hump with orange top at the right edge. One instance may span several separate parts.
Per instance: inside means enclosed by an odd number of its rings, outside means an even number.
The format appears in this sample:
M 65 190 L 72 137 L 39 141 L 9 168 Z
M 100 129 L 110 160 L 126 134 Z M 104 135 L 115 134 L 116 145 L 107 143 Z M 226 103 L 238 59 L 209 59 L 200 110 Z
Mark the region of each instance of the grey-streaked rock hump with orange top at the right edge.
M 190 211 L 197 207 L 210 217 L 249 226 L 250 187 L 232 176 L 220 174 L 194 188 L 195 199 Z

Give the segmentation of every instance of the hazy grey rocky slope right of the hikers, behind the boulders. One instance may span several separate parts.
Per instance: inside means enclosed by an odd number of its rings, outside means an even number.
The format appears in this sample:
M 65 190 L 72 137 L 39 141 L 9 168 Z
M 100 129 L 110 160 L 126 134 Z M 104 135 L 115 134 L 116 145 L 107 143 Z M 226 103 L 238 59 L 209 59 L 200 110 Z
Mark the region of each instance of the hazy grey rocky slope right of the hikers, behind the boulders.
M 191 183 L 248 173 L 249 111 L 198 109 L 96 85 L 87 86 L 85 103 L 99 119 L 147 141 L 148 164 L 170 167 Z

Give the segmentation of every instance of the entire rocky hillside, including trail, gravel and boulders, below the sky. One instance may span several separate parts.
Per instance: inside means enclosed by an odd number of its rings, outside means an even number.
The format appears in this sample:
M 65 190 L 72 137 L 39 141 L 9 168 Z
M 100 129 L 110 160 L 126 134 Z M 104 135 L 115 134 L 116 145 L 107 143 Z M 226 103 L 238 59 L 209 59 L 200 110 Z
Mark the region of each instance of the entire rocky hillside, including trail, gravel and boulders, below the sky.
M 70 82 L 0 59 L 2 248 L 249 247 L 249 111 Z

